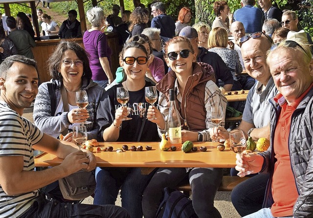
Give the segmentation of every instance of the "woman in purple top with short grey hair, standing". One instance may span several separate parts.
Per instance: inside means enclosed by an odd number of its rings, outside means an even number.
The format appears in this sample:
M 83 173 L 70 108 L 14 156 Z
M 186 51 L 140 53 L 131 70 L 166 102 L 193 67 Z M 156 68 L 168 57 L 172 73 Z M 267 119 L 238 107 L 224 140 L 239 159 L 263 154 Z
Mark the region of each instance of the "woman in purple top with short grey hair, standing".
M 83 43 L 89 53 L 92 80 L 101 87 L 113 82 L 111 72 L 112 50 L 108 45 L 106 35 L 101 32 L 105 26 L 104 12 L 99 7 L 93 7 L 86 13 L 91 28 L 84 33 Z

